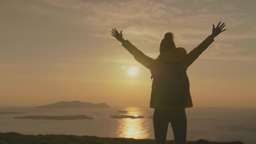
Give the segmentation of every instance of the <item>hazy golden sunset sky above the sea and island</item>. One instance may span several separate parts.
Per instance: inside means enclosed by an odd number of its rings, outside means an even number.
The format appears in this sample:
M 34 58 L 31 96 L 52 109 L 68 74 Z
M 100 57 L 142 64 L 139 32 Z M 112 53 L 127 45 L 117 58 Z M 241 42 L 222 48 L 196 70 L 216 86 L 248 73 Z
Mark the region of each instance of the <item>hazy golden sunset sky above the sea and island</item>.
M 188 69 L 194 106 L 255 107 L 256 1 L 0 1 L 0 106 L 80 100 L 149 106 L 150 71 L 112 28 L 156 58 L 166 32 L 188 52 L 227 30 Z M 129 69 L 136 68 L 130 75 Z

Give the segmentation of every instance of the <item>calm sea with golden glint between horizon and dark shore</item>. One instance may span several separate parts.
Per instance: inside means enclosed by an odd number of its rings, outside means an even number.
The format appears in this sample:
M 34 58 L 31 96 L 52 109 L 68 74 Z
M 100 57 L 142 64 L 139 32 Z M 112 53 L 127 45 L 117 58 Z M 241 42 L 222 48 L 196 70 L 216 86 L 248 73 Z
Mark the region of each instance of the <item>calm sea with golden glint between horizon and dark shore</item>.
M 112 115 L 123 115 L 118 110 L 128 111 L 142 119 L 114 119 Z M 66 134 L 99 137 L 127 137 L 154 139 L 154 109 L 149 107 L 112 107 L 110 109 L 39 109 L 36 107 L 0 107 L 0 112 L 25 112 L 0 114 L 0 132 L 21 134 Z M 229 107 L 191 107 L 186 109 L 187 140 L 242 141 L 256 143 L 256 109 Z M 14 119 L 26 115 L 87 115 L 95 119 L 46 120 Z M 167 140 L 173 140 L 169 124 Z

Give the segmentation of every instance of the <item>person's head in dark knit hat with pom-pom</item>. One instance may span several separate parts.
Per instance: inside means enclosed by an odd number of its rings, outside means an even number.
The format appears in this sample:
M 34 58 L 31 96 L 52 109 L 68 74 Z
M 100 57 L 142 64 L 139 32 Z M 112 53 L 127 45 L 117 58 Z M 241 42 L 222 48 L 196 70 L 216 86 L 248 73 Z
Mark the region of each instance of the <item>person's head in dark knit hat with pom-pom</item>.
M 174 49 L 174 48 L 176 48 L 176 46 L 173 41 L 173 33 L 168 32 L 165 34 L 165 38 L 162 39 L 162 41 L 160 43 L 160 53 L 162 53 L 166 50 Z

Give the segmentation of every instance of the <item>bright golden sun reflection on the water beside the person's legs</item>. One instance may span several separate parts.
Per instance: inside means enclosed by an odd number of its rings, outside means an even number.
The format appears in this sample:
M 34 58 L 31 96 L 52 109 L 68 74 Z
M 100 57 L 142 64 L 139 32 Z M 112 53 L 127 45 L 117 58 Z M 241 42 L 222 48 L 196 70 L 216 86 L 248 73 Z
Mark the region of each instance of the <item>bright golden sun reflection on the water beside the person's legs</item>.
M 128 115 L 141 116 L 139 107 L 127 107 L 126 109 L 130 113 Z M 118 124 L 118 137 L 126 137 L 133 139 L 147 139 L 149 136 L 147 118 L 131 119 L 124 118 L 119 119 Z

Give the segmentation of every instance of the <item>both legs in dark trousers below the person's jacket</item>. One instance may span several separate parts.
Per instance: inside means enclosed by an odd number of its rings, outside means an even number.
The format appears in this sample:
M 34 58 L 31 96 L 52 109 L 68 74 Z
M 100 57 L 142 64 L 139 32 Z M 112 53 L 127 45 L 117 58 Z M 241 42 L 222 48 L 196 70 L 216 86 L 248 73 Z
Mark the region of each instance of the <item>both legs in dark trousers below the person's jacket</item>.
M 155 109 L 153 116 L 155 143 L 165 144 L 168 123 L 171 122 L 176 144 L 185 144 L 187 140 L 187 117 L 185 109 Z

